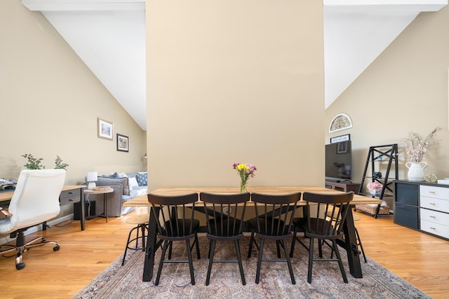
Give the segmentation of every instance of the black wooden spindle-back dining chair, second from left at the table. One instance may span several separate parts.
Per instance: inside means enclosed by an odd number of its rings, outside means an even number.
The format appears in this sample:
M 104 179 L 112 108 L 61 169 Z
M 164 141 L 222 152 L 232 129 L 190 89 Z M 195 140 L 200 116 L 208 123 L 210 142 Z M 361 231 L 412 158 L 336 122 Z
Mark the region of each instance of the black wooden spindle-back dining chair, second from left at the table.
M 241 262 L 239 240 L 243 237 L 243 217 L 245 216 L 246 202 L 250 193 L 239 194 L 212 194 L 200 193 L 204 202 L 204 213 L 208 215 L 209 265 L 206 276 L 206 286 L 209 285 L 210 272 L 213 263 L 238 263 L 241 283 L 246 284 L 245 273 Z M 217 241 L 232 241 L 236 249 L 236 260 L 214 260 L 215 244 Z

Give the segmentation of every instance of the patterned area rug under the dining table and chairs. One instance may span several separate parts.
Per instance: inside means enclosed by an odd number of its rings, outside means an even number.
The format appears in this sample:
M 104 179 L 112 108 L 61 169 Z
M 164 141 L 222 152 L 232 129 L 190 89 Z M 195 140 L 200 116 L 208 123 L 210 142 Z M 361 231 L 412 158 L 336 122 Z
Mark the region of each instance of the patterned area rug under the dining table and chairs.
M 241 284 L 237 263 L 214 263 L 209 286 L 205 285 L 208 266 L 208 240 L 200 237 L 201 259 L 194 257 L 196 284 L 190 284 L 189 266 L 186 263 L 165 264 L 159 286 L 152 281 L 142 282 L 144 253 L 128 251 L 126 262 L 117 258 L 74 298 L 430 298 L 407 281 L 396 276 L 368 258 L 362 264 L 363 278 L 349 274 L 347 256 L 340 250 L 344 260 L 349 284 L 344 284 L 336 262 L 314 262 L 312 282 L 307 283 L 308 253 L 300 244 L 295 245 L 292 258 L 296 284 L 291 284 L 286 263 L 262 262 L 260 282 L 255 284 L 257 249 L 253 246 L 251 258 L 247 258 L 249 237 L 241 239 L 243 269 L 246 286 Z M 276 256 L 274 243 L 266 242 L 264 258 Z M 289 246 L 288 246 L 289 247 Z M 325 254 L 329 253 L 329 249 Z M 235 259 L 232 242 L 217 243 L 215 258 Z M 159 262 L 161 250 L 156 252 Z M 187 259 L 185 243 L 173 246 L 173 259 Z

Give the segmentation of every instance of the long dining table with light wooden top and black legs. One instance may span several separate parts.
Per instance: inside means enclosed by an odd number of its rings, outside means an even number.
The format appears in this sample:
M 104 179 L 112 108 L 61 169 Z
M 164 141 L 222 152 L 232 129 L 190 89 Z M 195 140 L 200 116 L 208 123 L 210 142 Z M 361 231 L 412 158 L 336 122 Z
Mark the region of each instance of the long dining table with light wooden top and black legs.
M 264 194 L 290 194 L 295 192 L 300 192 L 301 196 L 304 192 L 315 192 L 315 193 L 340 193 L 337 190 L 331 190 L 323 187 L 253 187 L 248 188 L 250 193 L 264 193 Z M 152 193 L 157 195 L 182 195 L 187 193 L 240 193 L 239 188 L 159 188 L 153 190 Z M 381 200 L 377 200 L 373 197 L 365 197 L 361 195 L 354 195 L 354 199 L 351 205 L 355 204 L 380 204 Z M 202 202 L 199 201 L 198 204 L 201 206 Z M 250 205 L 251 202 L 248 202 Z M 298 207 L 304 207 L 306 202 L 300 200 L 298 202 Z M 140 197 L 135 197 L 133 200 L 128 200 L 123 202 L 123 207 L 149 207 L 147 195 L 141 195 Z M 154 267 L 154 248 L 156 246 L 156 221 L 149 216 L 149 234 L 147 239 L 147 251 L 145 253 L 145 265 L 143 270 L 142 281 L 150 281 L 153 277 L 153 267 Z M 354 219 L 352 215 L 352 209 L 349 209 L 347 214 L 347 221 L 344 225 L 344 243 L 342 246 L 347 250 L 349 271 L 352 276 L 356 278 L 361 278 L 362 271 L 360 265 L 360 258 L 358 257 L 358 249 L 356 242 L 356 232 L 354 228 Z

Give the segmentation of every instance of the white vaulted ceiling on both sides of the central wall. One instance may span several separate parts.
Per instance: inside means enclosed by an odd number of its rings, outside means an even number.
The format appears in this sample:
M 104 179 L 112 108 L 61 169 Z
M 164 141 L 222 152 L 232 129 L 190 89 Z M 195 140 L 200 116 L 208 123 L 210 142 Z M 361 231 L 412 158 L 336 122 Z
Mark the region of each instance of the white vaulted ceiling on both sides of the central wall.
M 318 0 L 317 0 L 318 1 Z M 22 0 L 41 11 L 146 130 L 145 0 Z M 323 0 L 323 109 L 422 11 L 448 0 Z

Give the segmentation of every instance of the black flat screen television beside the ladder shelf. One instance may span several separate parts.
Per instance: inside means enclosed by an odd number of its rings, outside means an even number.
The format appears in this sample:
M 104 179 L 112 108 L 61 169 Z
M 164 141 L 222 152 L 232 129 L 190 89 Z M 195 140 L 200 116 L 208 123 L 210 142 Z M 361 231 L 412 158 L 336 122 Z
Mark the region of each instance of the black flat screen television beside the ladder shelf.
M 352 181 L 350 140 L 326 144 L 326 181 Z

